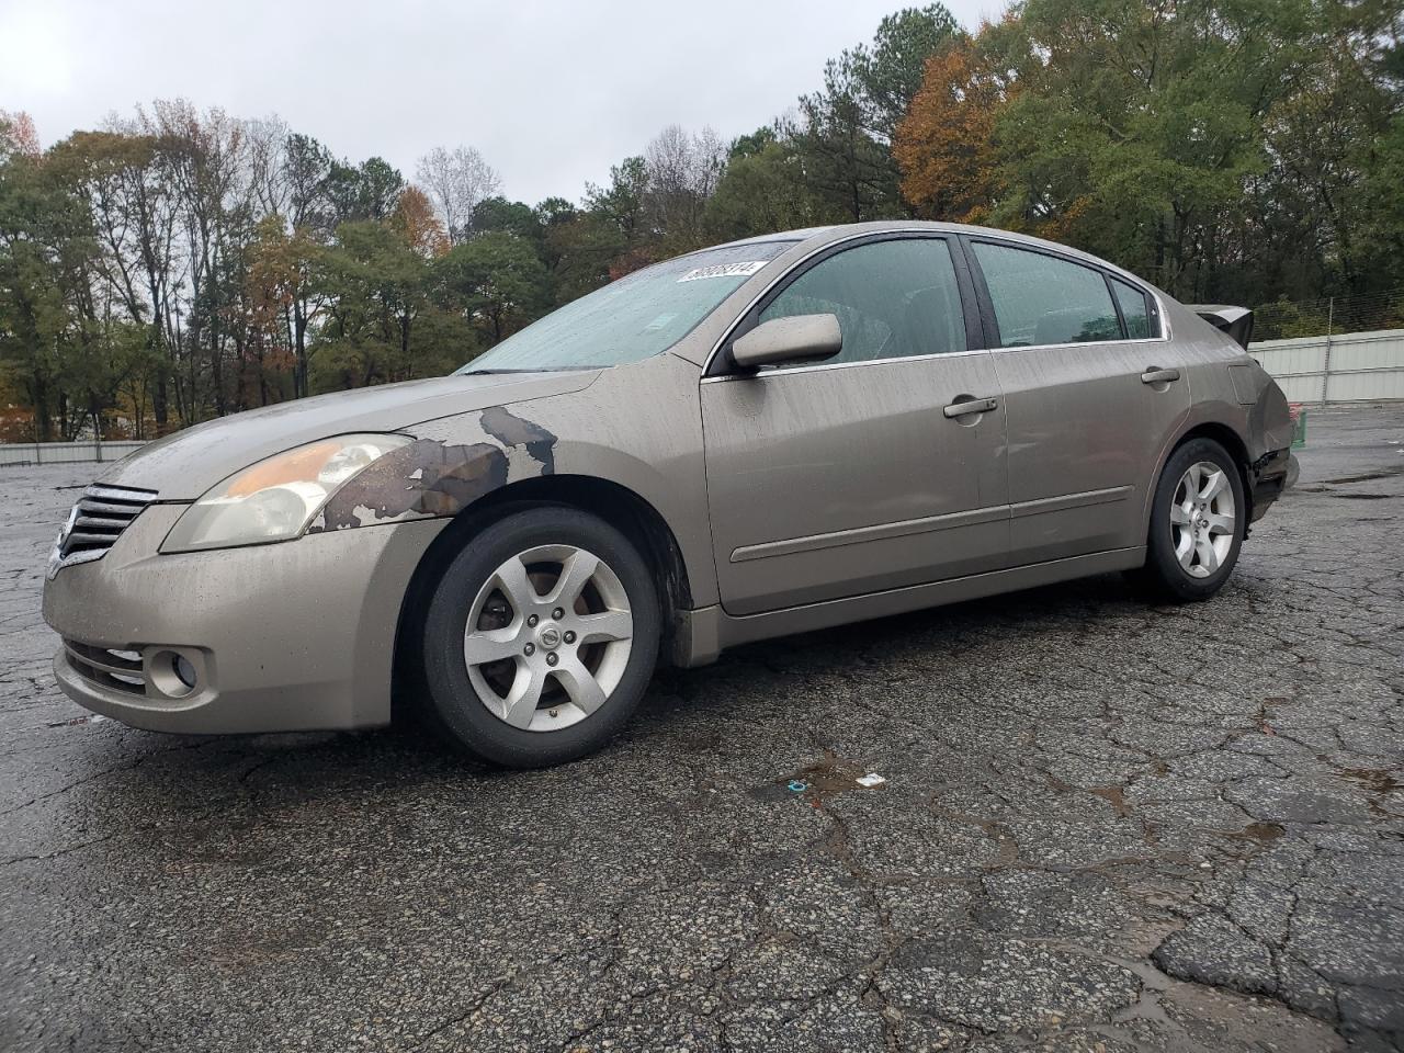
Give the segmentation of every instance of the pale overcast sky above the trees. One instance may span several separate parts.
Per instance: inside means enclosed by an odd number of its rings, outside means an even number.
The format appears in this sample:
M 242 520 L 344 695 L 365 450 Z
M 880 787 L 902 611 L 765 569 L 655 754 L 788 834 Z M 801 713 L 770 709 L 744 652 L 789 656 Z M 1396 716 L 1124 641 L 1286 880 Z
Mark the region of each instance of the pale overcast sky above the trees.
M 910 3 L 911 0 L 908 0 Z M 966 25 L 998 0 L 948 0 Z M 0 108 L 45 146 L 138 102 L 278 114 L 413 177 L 469 145 L 511 198 L 578 199 L 664 125 L 750 132 L 901 0 L 0 0 Z

